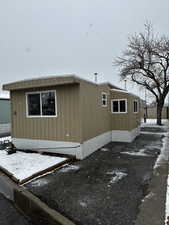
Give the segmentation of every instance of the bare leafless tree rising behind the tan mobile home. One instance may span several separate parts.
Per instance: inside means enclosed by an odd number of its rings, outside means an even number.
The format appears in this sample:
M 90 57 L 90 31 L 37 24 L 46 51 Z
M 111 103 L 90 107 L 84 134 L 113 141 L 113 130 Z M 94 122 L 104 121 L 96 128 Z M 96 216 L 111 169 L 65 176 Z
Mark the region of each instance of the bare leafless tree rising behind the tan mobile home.
M 157 124 L 161 125 L 162 108 L 169 92 L 169 37 L 155 35 L 152 25 L 145 32 L 129 37 L 128 46 L 118 57 L 122 79 L 145 87 L 156 98 Z

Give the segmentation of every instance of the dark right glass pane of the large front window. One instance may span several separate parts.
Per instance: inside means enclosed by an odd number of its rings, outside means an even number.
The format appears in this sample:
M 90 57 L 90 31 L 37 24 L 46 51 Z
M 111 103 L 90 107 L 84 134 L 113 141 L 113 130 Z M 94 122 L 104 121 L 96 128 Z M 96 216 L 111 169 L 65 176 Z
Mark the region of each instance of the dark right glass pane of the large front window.
M 43 116 L 55 116 L 55 93 L 54 92 L 42 92 L 42 115 Z

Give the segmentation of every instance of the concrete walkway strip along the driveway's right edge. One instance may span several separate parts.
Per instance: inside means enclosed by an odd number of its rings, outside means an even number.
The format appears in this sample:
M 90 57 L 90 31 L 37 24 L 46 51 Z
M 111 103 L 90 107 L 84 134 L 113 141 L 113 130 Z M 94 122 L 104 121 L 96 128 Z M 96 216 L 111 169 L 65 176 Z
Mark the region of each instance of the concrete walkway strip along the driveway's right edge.
M 147 125 L 148 126 L 148 125 Z M 146 126 L 146 127 L 147 127 Z M 158 127 L 158 126 L 154 126 Z M 163 148 L 154 166 L 153 177 L 149 186 L 149 194 L 140 206 L 136 225 L 164 225 L 169 209 L 166 209 L 166 193 L 169 159 L 169 124 L 166 124 L 167 133 L 163 139 Z M 166 129 L 164 128 L 164 129 Z M 168 199 L 169 200 L 169 199 Z

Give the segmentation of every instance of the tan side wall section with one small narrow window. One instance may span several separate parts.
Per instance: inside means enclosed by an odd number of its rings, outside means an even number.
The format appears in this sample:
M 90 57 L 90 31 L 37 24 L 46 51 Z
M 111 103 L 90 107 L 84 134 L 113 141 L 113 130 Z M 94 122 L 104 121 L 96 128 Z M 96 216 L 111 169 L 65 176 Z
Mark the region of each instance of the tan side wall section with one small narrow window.
M 108 106 L 103 107 L 101 93 L 108 94 Z M 110 88 L 85 81 L 80 83 L 82 142 L 111 130 Z

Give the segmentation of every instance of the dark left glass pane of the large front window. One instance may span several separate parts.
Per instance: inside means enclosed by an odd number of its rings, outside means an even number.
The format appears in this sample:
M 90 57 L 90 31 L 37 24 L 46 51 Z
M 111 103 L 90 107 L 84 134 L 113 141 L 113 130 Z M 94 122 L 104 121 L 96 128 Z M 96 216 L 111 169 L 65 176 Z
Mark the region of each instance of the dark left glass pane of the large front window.
M 28 94 L 28 115 L 39 116 L 40 115 L 40 94 Z

